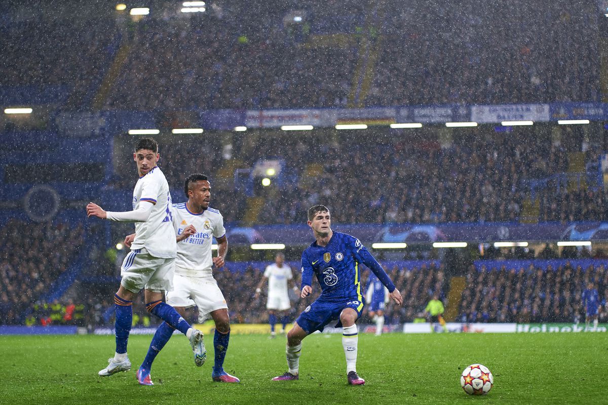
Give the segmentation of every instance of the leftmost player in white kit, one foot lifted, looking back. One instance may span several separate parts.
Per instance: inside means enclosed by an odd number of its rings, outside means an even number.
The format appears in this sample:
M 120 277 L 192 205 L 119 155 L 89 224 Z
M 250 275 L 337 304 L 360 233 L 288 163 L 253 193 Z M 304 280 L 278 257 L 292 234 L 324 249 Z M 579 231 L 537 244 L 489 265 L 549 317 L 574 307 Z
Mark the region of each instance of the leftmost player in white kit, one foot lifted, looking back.
M 133 160 L 137 164 L 139 180 L 133 191 L 133 211 L 106 212 L 92 202 L 86 206 L 89 217 L 135 222 L 137 234 L 131 243 L 131 252 L 126 255 L 120 268 L 122 280 L 114 294 L 116 353 L 108 360 L 108 367 L 100 370 L 100 376 L 131 369 L 126 345 L 133 322 L 133 298 L 142 289 L 147 310 L 187 336 L 195 354 L 195 363 L 202 366 L 202 333 L 192 328 L 173 307 L 162 302 L 164 291 L 173 288 L 176 241 L 171 226 L 169 185 L 161 169 L 156 166 L 160 157 L 155 140 L 141 138 L 137 141 Z

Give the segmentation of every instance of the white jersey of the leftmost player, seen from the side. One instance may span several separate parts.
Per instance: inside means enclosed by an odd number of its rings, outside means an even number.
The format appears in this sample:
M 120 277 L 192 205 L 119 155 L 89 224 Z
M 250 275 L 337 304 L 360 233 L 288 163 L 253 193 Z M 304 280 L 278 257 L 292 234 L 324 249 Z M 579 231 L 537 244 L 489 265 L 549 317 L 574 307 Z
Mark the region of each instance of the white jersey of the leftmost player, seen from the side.
M 146 222 L 135 223 L 131 250 L 145 248 L 154 257 L 176 256 L 175 232 L 171 223 L 171 194 L 165 175 L 157 166 L 137 180 L 133 190 L 133 209 L 142 201 L 154 203 Z

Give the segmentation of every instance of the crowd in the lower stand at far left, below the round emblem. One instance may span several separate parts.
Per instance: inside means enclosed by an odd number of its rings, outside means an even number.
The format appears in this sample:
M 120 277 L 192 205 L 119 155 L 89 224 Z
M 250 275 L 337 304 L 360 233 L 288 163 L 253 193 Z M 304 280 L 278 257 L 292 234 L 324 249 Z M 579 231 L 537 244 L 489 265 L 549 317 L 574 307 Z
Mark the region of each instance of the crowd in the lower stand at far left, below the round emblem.
M 32 302 L 74 262 L 82 225 L 9 220 L 0 228 L 0 323 L 24 322 Z

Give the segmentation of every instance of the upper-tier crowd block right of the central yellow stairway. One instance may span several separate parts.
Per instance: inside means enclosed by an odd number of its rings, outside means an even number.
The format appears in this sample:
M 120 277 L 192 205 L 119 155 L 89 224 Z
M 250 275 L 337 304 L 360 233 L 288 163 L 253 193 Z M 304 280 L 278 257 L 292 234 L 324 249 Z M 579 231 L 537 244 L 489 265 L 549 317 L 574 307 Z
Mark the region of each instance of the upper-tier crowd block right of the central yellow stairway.
M 599 101 L 599 13 L 574 3 L 399 2 L 365 104 Z

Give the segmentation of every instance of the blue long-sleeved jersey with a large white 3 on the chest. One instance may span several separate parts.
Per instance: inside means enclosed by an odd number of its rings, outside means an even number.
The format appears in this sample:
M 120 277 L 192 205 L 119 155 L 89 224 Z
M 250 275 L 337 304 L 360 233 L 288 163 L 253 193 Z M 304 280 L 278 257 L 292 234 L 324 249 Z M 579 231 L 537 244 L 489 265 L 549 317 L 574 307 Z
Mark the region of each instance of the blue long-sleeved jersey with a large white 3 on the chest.
M 321 297 L 331 301 L 356 299 L 361 296 L 361 268 L 365 264 L 389 291 L 395 285 L 382 266 L 356 237 L 334 232 L 327 246 L 313 242 L 302 253 L 302 288 L 311 285 L 313 274 L 321 285 Z

